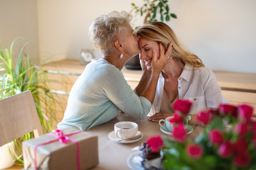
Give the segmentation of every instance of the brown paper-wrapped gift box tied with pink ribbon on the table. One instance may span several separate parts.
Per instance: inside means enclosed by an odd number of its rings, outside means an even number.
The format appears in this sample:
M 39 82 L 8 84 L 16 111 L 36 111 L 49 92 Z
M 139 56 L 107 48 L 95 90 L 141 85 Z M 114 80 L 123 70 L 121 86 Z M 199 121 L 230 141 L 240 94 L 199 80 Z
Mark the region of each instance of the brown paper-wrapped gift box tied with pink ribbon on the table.
M 73 128 L 24 141 L 22 150 L 25 170 L 87 170 L 99 164 L 98 136 Z

